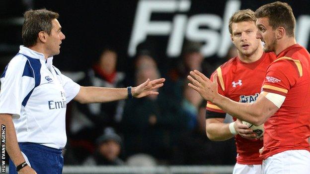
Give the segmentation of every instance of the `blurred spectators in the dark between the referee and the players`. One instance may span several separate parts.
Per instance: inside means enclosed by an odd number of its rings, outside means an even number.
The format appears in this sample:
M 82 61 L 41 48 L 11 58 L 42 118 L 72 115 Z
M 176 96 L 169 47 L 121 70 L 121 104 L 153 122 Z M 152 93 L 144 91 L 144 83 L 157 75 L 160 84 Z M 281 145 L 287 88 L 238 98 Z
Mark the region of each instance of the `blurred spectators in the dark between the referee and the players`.
M 110 103 L 70 103 L 65 165 L 235 164 L 233 139 L 208 139 L 206 101 L 187 86 L 190 70 L 198 69 L 210 76 L 223 63 L 207 61 L 200 48 L 200 43 L 186 42 L 177 61 L 159 66 L 152 44 L 142 43 L 129 64 L 129 72 L 118 71 L 117 51 L 102 48 L 84 77 L 77 80 L 78 84 L 126 87 L 159 77 L 166 78 L 166 82 L 158 96 Z M 236 51 L 232 47 L 227 58 L 234 56 Z M 227 121 L 231 117 L 227 116 Z

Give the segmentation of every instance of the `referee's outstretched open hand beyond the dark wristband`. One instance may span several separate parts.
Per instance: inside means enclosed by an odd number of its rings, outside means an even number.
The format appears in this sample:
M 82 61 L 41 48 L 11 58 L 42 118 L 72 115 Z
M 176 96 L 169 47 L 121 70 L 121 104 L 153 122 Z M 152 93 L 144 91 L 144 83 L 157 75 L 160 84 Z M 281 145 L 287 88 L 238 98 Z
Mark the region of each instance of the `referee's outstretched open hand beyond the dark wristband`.
M 141 98 L 147 95 L 158 95 L 158 92 L 153 91 L 153 90 L 163 86 L 164 81 L 165 81 L 164 78 L 159 78 L 159 79 L 152 80 L 152 81 L 148 79 L 146 82 L 133 88 L 133 91 L 132 91 L 133 96 L 136 98 Z

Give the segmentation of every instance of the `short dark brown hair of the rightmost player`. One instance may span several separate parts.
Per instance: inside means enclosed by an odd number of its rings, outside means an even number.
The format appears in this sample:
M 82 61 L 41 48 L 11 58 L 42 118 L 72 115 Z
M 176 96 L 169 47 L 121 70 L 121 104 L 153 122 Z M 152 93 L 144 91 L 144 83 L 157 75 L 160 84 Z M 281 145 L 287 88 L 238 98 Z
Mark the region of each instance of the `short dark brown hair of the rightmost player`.
M 292 7 L 285 2 L 273 2 L 259 7 L 255 11 L 256 18 L 267 17 L 272 29 L 283 27 L 289 37 L 294 37 L 295 16 Z

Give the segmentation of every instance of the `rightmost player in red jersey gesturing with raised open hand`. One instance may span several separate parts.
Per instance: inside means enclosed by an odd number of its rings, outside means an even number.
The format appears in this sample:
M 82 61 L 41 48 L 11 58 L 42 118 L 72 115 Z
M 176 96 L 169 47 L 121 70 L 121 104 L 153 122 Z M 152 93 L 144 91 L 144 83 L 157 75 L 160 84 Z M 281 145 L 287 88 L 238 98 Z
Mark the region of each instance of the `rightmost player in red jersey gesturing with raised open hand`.
M 264 52 L 277 59 L 267 68 L 262 92 L 254 103 L 237 103 L 218 93 L 214 82 L 197 70 L 190 87 L 223 111 L 251 122 L 265 123 L 263 174 L 310 174 L 310 54 L 297 44 L 290 5 L 273 2 L 255 11 L 257 38 Z

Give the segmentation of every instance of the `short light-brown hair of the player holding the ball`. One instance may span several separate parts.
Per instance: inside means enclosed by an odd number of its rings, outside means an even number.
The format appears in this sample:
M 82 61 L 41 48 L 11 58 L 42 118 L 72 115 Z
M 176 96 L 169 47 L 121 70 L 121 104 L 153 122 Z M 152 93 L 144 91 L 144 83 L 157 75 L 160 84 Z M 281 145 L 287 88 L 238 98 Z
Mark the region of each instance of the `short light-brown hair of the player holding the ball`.
M 244 21 L 253 21 L 256 22 L 254 11 L 251 9 L 239 10 L 233 13 L 233 16 L 230 18 L 228 27 L 231 34 L 233 34 L 232 25 L 233 23 L 244 22 Z

